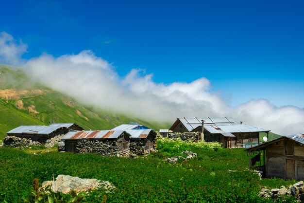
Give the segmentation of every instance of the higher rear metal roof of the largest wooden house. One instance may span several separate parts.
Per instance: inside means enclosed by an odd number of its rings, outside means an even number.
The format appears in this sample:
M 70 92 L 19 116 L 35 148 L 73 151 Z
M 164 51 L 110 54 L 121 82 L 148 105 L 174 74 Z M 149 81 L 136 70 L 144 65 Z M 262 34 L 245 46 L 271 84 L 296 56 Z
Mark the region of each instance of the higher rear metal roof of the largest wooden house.
M 223 118 L 178 118 L 186 127 L 188 131 L 192 131 L 200 126 L 202 126 L 202 120 L 204 120 L 204 126 L 222 126 L 222 125 L 237 125 L 238 123 L 231 117 L 223 117 Z

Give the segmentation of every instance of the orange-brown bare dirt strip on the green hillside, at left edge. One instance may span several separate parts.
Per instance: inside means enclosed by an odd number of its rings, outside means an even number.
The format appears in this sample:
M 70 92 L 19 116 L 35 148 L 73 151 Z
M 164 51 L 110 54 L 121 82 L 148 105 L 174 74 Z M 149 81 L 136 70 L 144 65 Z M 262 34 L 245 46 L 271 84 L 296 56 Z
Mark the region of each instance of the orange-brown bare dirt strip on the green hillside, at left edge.
M 14 89 L 5 89 L 0 90 L 0 98 L 1 99 L 21 99 L 31 96 L 36 96 L 40 94 L 44 94 L 50 92 L 49 90 L 14 90 Z

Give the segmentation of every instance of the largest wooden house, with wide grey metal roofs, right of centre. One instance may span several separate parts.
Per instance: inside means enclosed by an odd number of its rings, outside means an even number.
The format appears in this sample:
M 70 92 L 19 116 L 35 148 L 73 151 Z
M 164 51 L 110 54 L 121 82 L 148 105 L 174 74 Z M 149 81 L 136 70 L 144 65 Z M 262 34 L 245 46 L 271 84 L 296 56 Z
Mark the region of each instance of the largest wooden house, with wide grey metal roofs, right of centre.
M 259 133 L 270 130 L 239 124 L 233 118 L 177 118 L 170 127 L 172 132 L 202 133 L 206 142 L 220 142 L 224 148 L 248 148 L 259 144 Z

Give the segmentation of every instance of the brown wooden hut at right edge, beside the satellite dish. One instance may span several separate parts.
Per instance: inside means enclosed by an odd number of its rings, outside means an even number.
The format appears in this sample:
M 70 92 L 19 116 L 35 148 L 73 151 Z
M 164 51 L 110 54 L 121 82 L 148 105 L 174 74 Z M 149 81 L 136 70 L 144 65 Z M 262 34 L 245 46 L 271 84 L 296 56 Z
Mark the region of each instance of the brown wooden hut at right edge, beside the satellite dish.
M 261 168 L 267 178 L 304 180 L 304 134 L 282 136 L 246 151 L 250 168 L 253 153 L 263 151 Z

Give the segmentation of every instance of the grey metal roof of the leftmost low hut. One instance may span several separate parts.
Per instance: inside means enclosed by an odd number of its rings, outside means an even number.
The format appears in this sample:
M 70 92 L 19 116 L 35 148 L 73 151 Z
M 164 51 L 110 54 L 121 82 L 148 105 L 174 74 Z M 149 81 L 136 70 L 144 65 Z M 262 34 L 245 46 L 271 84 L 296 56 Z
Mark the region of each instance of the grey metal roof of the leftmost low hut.
M 12 129 L 7 133 L 26 133 L 26 134 L 50 134 L 53 131 L 60 129 L 62 127 L 53 126 L 19 126 L 16 129 Z

